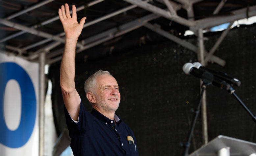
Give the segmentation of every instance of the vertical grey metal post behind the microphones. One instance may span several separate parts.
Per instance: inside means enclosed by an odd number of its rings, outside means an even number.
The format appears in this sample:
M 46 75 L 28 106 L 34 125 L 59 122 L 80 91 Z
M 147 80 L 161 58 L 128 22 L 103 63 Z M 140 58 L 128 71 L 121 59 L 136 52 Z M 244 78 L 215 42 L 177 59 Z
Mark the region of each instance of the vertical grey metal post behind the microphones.
M 198 50 L 198 60 L 201 62 L 203 66 L 205 66 L 204 62 L 204 36 L 203 36 L 203 29 L 198 29 L 198 42 L 199 42 L 199 50 Z M 200 92 L 201 92 L 201 85 L 203 81 L 200 80 Z M 207 128 L 207 112 L 206 112 L 206 92 L 202 97 L 202 105 L 201 105 L 201 114 L 202 114 L 202 134 L 203 134 L 203 144 L 208 143 L 208 128 Z

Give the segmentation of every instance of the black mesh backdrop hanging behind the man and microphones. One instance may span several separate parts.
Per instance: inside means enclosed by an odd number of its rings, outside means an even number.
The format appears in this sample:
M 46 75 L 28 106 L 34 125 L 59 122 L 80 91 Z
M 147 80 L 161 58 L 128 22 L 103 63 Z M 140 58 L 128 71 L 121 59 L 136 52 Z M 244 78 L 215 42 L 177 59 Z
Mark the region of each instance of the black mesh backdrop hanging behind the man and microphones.
M 137 31 L 137 32 L 136 32 Z M 132 33 L 139 33 L 135 30 Z M 148 30 L 150 31 L 150 30 Z M 220 32 L 207 33 L 208 51 Z M 209 68 L 223 71 L 242 81 L 235 93 L 256 113 L 256 26 L 240 26 L 230 30 L 215 55 L 226 61 L 225 67 L 210 63 Z M 121 102 L 117 110 L 121 119 L 134 131 L 140 155 L 181 155 L 186 142 L 192 109 L 199 100 L 199 79 L 185 75 L 182 66 L 197 61 L 196 53 L 159 37 L 159 42 L 140 44 L 122 49 L 105 57 L 84 61 L 83 54 L 76 61 L 76 89 L 91 111 L 83 89 L 84 81 L 95 71 L 108 70 L 117 80 Z M 197 38 L 187 37 L 197 44 Z M 118 44 L 118 43 L 116 43 Z M 93 53 L 96 48 L 88 51 Z M 65 129 L 63 100 L 59 82 L 60 62 L 50 66 L 53 83 L 52 101 L 57 133 Z M 209 140 L 218 135 L 256 142 L 256 126 L 249 114 L 227 91 L 215 86 L 207 89 Z M 201 116 L 199 115 L 190 153 L 202 146 Z

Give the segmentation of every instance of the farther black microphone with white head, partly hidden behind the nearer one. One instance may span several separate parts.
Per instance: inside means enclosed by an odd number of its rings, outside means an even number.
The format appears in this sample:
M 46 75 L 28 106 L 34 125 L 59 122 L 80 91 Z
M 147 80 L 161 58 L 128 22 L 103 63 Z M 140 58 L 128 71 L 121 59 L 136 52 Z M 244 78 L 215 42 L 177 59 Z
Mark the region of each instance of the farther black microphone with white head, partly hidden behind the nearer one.
M 214 71 L 212 69 L 206 68 L 204 66 L 202 66 L 201 63 L 199 62 L 194 62 L 193 65 L 197 68 L 197 69 L 202 69 L 204 71 L 208 71 L 211 72 L 215 77 L 218 77 L 222 80 L 224 80 L 225 82 L 231 84 L 231 85 L 236 85 L 236 86 L 240 86 L 241 85 L 241 81 L 238 80 L 237 78 L 232 78 L 230 76 L 228 76 L 226 73 L 220 72 L 220 71 Z

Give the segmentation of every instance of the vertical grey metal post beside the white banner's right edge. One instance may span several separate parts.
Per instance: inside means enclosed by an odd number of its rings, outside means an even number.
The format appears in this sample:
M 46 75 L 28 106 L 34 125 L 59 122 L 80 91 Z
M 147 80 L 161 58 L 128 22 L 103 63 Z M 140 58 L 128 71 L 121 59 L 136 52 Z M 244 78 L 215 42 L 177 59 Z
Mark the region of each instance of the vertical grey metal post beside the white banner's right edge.
M 45 53 L 39 55 L 39 156 L 43 156 L 44 151 L 44 98 L 45 98 Z

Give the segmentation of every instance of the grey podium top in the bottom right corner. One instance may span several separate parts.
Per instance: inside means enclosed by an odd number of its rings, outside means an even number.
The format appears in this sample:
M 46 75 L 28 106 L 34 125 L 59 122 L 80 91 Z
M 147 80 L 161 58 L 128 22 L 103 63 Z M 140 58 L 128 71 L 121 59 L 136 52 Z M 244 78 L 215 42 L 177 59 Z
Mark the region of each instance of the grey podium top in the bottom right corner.
M 256 143 L 219 135 L 190 156 L 256 156 Z

